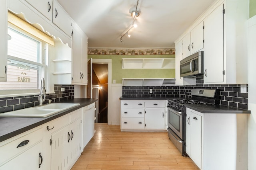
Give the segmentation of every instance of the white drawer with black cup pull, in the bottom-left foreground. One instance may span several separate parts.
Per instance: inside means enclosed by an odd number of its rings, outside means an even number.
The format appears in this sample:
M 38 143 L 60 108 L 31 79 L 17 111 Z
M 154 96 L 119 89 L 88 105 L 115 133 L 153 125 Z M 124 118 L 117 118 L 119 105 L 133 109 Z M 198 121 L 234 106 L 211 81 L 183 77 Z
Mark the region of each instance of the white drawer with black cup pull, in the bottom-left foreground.
M 10 141 L 10 143 L 7 143 L 6 145 L 0 147 L 0 165 L 9 160 L 10 158 L 13 158 L 16 155 L 20 154 L 21 152 L 24 152 L 25 150 L 36 144 L 38 141 L 41 141 L 43 139 L 42 128 L 28 133 L 27 135 L 25 135 L 24 133 L 22 134 L 20 134 L 20 138 L 14 141 Z M 23 146 L 18 147 L 18 145 Z

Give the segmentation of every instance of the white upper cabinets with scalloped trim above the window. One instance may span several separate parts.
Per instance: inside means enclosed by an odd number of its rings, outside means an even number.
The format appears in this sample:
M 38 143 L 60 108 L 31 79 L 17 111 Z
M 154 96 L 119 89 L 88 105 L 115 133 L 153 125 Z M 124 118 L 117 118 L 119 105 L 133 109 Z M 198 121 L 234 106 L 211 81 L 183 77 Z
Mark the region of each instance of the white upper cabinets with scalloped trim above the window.
M 8 10 L 18 17 L 71 47 L 71 18 L 58 2 L 53 0 L 8 0 L 7 6 Z

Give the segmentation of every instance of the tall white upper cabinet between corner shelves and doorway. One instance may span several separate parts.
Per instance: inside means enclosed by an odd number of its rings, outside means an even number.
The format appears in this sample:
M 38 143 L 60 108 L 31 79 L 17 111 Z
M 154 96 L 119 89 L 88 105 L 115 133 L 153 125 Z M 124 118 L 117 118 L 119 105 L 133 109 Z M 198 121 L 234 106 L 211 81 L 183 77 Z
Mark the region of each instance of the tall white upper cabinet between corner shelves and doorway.
M 72 84 L 87 85 L 87 39 L 76 25 L 72 30 Z

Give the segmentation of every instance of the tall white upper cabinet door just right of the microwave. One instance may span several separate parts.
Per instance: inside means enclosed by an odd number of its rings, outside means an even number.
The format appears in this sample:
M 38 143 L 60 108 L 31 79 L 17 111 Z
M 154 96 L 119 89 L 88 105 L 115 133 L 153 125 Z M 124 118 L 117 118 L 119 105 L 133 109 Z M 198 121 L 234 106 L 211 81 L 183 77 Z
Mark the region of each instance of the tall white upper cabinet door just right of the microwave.
M 223 5 L 204 20 L 204 84 L 224 81 Z

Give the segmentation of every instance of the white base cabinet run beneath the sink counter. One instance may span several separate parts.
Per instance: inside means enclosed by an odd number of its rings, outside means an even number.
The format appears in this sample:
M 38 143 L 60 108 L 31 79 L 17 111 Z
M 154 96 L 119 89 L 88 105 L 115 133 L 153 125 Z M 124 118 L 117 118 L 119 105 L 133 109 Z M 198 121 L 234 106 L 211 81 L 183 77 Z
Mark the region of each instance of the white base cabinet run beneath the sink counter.
M 83 113 L 77 109 L 2 141 L 0 170 L 70 170 L 83 150 L 82 133 L 87 134 Z

